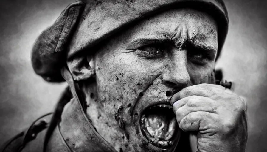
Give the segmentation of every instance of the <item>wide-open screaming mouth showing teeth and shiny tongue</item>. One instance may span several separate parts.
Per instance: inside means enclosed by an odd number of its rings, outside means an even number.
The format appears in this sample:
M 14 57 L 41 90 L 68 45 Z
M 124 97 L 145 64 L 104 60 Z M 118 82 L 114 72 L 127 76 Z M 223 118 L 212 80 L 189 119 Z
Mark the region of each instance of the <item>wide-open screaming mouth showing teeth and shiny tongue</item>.
M 170 105 L 148 107 L 140 118 L 140 129 L 147 140 L 159 148 L 170 148 L 178 138 L 178 124 Z

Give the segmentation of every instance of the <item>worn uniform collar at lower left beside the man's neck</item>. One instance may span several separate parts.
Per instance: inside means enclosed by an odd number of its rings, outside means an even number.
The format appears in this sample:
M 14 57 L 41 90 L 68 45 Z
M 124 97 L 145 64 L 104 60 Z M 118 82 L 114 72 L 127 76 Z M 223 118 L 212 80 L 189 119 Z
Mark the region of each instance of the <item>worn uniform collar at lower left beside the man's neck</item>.
M 58 125 L 63 140 L 72 151 L 110 151 L 116 150 L 92 126 L 76 97 L 64 107 Z

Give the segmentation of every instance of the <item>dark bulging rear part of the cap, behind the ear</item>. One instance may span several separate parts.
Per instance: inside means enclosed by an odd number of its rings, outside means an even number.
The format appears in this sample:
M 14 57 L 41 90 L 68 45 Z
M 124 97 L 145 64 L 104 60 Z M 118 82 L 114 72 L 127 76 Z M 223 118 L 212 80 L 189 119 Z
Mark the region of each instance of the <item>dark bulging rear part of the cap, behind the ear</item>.
M 62 82 L 60 70 L 66 65 L 66 47 L 76 29 L 84 4 L 76 1 L 60 14 L 55 23 L 44 30 L 32 49 L 32 67 L 46 81 Z

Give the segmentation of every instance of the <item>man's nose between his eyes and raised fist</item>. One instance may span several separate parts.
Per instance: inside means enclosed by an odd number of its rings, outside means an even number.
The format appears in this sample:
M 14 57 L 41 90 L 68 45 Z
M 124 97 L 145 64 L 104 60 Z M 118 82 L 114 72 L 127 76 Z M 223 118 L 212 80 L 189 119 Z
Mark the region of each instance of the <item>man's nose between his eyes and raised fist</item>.
M 170 57 L 162 81 L 167 87 L 184 88 L 190 83 L 186 51 L 177 50 Z

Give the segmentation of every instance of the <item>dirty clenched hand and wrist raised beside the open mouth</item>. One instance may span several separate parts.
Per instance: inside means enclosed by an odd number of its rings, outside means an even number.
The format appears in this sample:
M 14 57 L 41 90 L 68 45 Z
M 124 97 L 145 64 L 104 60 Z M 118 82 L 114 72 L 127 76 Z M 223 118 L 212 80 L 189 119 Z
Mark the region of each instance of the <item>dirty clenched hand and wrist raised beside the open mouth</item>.
M 172 99 L 179 127 L 198 132 L 199 152 L 243 152 L 247 141 L 247 105 L 221 85 L 183 88 Z

